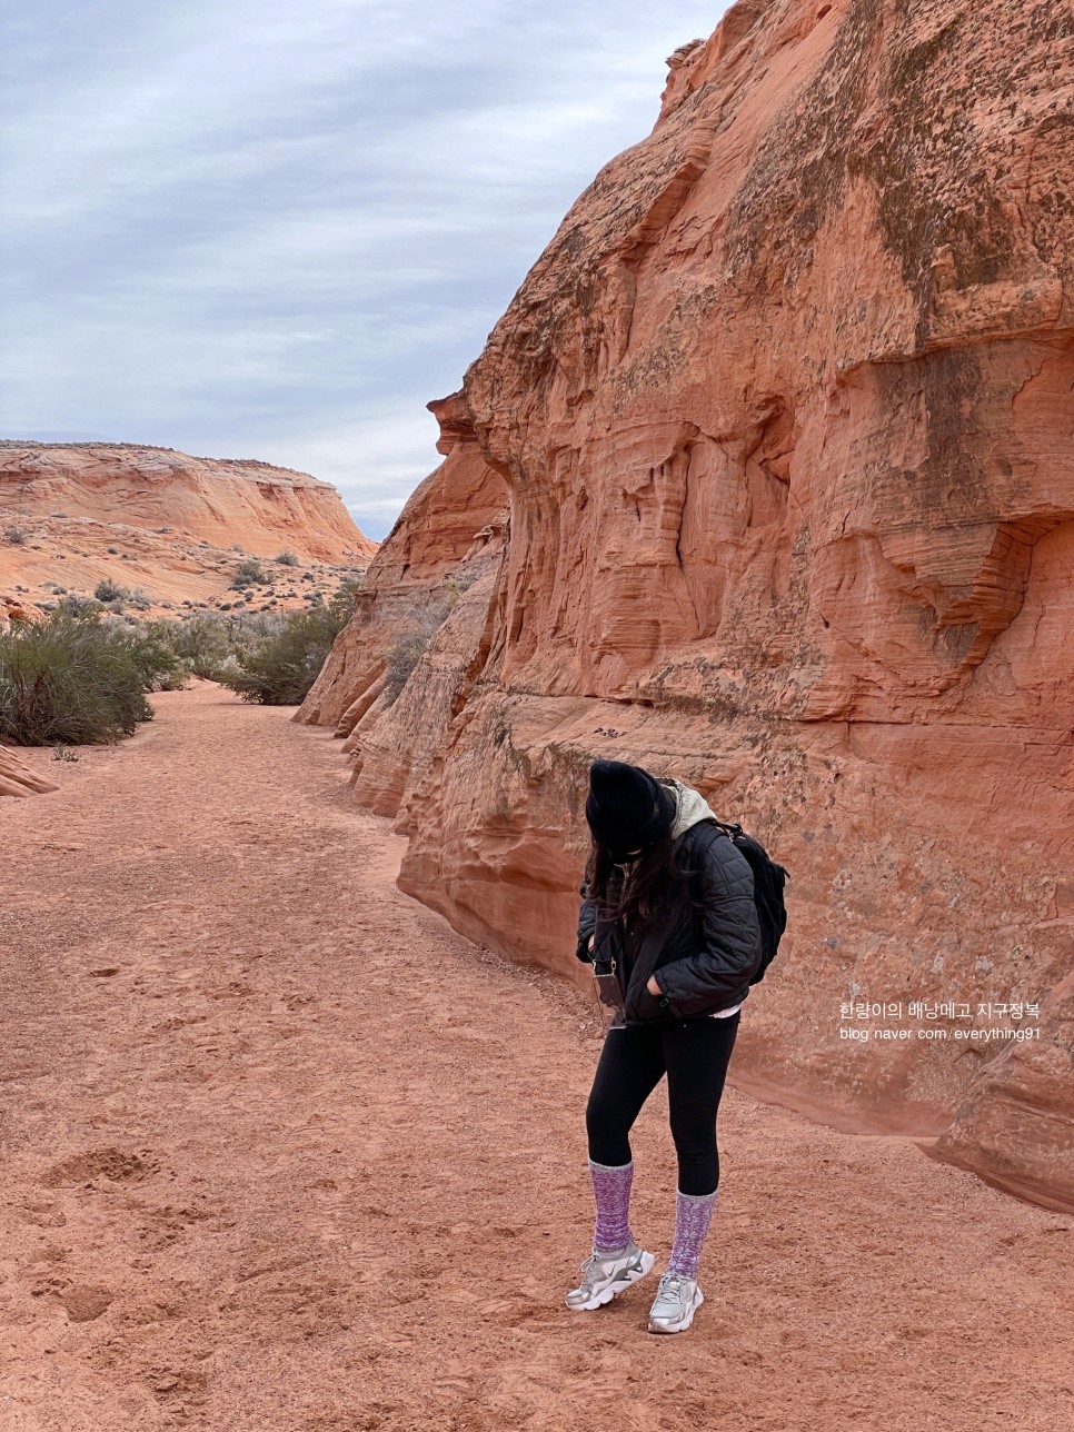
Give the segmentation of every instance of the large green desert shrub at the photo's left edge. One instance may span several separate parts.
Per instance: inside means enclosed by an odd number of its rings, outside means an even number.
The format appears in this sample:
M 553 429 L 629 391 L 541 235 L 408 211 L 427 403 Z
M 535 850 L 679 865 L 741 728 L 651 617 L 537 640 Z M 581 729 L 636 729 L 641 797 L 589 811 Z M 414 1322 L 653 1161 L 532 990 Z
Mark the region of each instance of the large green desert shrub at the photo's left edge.
M 0 633 L 0 736 L 21 746 L 115 742 L 152 720 L 146 692 L 175 656 L 126 623 L 54 610 Z

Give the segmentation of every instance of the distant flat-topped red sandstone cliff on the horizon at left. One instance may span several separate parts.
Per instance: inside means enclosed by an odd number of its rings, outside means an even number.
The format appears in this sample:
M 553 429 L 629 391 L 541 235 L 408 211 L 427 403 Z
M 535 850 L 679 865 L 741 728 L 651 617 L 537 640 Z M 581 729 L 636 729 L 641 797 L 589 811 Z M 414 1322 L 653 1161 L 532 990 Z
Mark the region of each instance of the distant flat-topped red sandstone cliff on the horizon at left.
M 286 607 L 335 590 L 335 570 L 364 569 L 377 544 L 306 473 L 112 442 L 0 442 L 0 606 L 43 606 L 56 586 L 92 594 L 106 577 L 155 609 L 219 606 L 243 556 L 284 550 L 312 577 L 288 597 L 298 573 L 269 567 Z

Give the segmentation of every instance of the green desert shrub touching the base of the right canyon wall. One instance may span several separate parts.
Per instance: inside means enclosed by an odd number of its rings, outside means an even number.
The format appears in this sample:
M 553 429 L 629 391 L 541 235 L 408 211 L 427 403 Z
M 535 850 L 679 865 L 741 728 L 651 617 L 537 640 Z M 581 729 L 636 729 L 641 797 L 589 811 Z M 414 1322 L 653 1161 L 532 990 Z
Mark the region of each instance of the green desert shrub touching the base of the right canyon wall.
M 316 680 L 332 643 L 354 613 L 355 587 L 347 584 L 308 611 L 263 616 L 263 634 L 236 652 L 219 680 L 243 702 L 298 706 Z

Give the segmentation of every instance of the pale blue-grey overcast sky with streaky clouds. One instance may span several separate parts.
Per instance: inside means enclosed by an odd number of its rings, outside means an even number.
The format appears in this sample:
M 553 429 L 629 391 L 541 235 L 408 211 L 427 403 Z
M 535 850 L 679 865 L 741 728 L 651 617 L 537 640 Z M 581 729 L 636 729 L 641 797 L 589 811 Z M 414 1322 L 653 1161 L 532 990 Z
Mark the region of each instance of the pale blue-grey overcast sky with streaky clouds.
M 723 0 L 6 7 L 0 437 L 258 457 L 382 537 Z

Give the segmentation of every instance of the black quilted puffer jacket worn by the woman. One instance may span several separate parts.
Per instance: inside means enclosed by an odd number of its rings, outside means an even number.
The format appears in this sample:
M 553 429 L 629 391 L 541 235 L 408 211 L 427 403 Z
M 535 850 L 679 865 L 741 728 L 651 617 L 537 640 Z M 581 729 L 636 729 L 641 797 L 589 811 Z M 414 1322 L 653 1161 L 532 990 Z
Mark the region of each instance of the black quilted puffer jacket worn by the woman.
M 760 925 L 753 904 L 753 872 L 735 845 L 710 821 L 690 826 L 676 842 L 697 874 L 690 891 L 649 929 L 640 921 L 597 916 L 589 888 L 581 886 L 577 957 L 589 964 L 616 961 L 627 1024 L 689 1020 L 726 1010 L 749 995 L 749 981 L 760 967 Z M 617 901 L 626 872 L 616 866 L 609 898 Z M 589 948 L 590 937 L 593 948 Z M 663 991 L 652 994 L 650 975 Z

